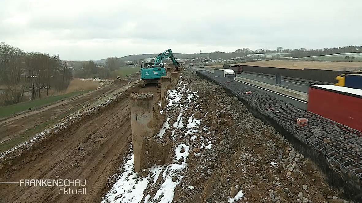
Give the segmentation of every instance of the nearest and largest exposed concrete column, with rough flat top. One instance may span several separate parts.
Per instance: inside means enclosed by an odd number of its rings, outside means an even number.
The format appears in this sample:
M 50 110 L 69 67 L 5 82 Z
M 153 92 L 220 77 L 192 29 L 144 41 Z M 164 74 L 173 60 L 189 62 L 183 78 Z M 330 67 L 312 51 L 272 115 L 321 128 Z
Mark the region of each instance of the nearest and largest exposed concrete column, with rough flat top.
M 131 94 L 131 126 L 134 152 L 134 169 L 139 172 L 146 158 L 147 137 L 154 133 L 153 125 L 153 94 Z

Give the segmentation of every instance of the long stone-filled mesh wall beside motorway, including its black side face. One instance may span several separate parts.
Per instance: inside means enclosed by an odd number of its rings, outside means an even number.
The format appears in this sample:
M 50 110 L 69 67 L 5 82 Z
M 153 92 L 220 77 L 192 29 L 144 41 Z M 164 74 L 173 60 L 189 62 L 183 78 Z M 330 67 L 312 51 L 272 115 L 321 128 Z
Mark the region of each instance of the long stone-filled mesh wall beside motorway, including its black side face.
M 199 70 L 202 79 L 221 85 L 254 116 L 272 125 L 304 156 L 310 158 L 326 181 L 344 198 L 362 202 L 362 132 L 278 100 L 243 83 Z M 306 125 L 296 123 L 307 118 Z

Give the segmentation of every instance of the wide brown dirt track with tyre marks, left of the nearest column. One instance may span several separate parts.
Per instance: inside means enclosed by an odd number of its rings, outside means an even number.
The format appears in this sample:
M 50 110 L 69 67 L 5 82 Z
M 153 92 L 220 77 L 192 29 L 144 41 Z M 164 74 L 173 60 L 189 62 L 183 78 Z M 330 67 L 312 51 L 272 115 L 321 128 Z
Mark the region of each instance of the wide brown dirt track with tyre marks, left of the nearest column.
M 146 87 L 137 91 L 153 93 L 156 95 L 154 100 L 159 99 L 159 88 Z M 59 194 L 59 189 L 64 186 L 0 184 L 0 202 L 100 202 L 108 190 L 109 177 L 117 172 L 119 164 L 130 150 L 129 101 L 127 93 L 101 112 L 86 116 L 70 128 L 41 142 L 29 153 L 21 154 L 11 167 L 0 170 L 0 182 L 24 179 L 86 181 L 85 186 L 70 187 L 85 187 L 85 195 Z

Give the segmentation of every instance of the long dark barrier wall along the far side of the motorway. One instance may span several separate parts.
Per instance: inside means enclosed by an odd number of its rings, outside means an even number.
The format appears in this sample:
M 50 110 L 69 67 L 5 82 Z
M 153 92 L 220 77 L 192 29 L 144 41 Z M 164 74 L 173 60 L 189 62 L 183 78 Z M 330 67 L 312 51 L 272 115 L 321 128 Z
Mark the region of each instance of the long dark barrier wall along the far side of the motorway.
M 230 65 L 224 65 L 225 69 L 228 69 Z M 263 74 L 277 75 L 281 74 L 282 76 L 291 77 L 291 78 L 300 78 L 306 80 L 315 80 L 322 81 L 326 83 L 336 83 L 336 76 L 341 74 L 354 73 L 351 71 L 337 71 L 337 70 L 319 70 L 319 69 L 285 69 L 285 68 L 274 68 L 274 67 L 265 67 L 265 66 L 249 66 L 242 65 L 244 71 L 248 72 L 257 72 Z

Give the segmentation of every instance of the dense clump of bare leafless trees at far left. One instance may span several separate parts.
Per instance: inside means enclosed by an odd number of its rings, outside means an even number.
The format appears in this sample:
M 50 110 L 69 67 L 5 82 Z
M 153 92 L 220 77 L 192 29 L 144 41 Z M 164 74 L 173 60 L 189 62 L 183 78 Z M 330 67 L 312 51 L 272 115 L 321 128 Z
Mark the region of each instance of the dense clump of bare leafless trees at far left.
M 25 97 L 34 100 L 49 90 L 66 89 L 73 78 L 72 70 L 59 56 L 39 52 L 24 52 L 20 48 L 0 43 L 0 102 L 12 105 Z

